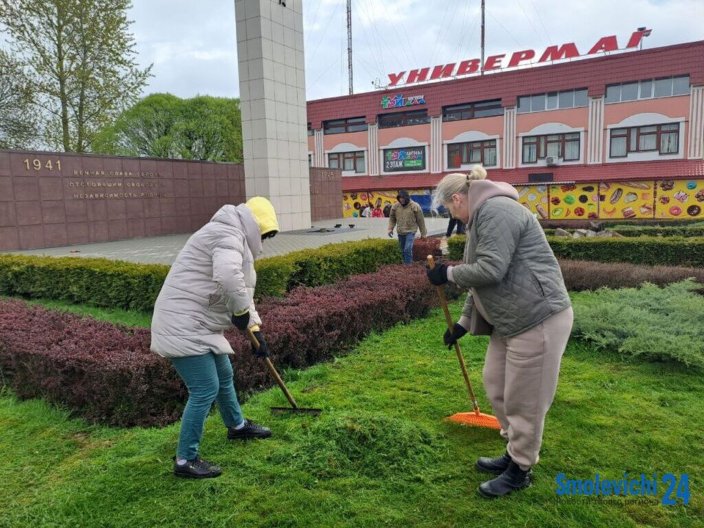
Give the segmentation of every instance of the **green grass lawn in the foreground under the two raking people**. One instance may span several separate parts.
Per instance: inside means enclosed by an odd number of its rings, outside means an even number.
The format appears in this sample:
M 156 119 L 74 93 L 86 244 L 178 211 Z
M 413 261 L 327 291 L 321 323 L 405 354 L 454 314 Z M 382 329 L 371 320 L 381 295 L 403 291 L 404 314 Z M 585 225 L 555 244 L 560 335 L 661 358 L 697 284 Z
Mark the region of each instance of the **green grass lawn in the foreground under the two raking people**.
M 454 303 L 458 313 L 460 303 Z M 439 311 L 372 336 L 355 353 L 288 372 L 301 406 L 320 417 L 272 416 L 278 389 L 253 396 L 247 417 L 268 441 L 225 439 L 208 418 L 201 455 L 223 467 L 208 481 L 170 474 L 178 425 L 111 429 L 42 401 L 0 397 L 1 527 L 694 527 L 702 526 L 704 379 L 686 367 L 624 362 L 572 341 L 548 414 L 534 486 L 477 495 L 479 455 L 498 432 L 444 417 L 470 410 L 457 359 L 441 346 Z M 484 412 L 486 338 L 463 339 Z M 555 501 L 555 476 L 689 473 L 689 506 Z M 658 503 L 665 487 L 658 486 Z

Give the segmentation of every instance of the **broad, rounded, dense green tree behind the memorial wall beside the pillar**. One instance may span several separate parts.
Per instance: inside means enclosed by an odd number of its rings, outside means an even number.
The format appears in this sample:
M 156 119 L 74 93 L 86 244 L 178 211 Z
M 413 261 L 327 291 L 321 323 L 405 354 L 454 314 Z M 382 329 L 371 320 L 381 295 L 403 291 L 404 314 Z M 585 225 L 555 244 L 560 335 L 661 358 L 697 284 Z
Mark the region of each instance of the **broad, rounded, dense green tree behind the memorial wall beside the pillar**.
M 151 94 L 105 127 L 93 147 L 114 156 L 239 162 L 239 99 Z

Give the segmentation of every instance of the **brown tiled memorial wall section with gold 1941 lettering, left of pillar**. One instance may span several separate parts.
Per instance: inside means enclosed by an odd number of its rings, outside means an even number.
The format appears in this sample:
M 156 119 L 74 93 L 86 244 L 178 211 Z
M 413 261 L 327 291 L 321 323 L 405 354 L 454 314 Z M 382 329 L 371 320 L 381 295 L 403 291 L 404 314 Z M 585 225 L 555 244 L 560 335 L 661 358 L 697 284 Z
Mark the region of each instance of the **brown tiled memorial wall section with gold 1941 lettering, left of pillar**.
M 234 163 L 0 150 L 0 251 L 193 232 L 243 200 Z

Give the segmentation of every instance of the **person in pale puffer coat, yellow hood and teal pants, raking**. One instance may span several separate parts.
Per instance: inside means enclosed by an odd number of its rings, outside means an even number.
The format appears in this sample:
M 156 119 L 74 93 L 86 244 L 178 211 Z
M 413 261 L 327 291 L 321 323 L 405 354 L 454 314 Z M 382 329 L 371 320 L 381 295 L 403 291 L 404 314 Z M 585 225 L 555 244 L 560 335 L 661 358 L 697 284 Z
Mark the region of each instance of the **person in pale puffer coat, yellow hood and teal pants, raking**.
M 254 260 L 263 241 L 279 231 L 274 206 L 256 196 L 239 206 L 222 206 L 191 235 L 161 287 L 151 320 L 151 351 L 169 358 L 188 389 L 173 472 L 177 477 L 218 477 L 220 466 L 198 455 L 206 417 L 218 402 L 228 439 L 263 439 L 271 431 L 246 420 L 232 381 L 234 353 L 222 332 L 250 328 L 268 356 L 253 302 Z

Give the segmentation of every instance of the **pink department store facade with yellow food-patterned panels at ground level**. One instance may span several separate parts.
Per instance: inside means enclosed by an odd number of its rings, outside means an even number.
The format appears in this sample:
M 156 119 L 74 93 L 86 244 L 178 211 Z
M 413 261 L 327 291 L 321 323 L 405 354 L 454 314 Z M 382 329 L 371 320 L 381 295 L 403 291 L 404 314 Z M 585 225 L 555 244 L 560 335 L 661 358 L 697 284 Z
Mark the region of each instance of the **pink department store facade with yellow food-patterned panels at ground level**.
M 429 196 L 482 163 L 541 218 L 704 218 L 702 56 L 691 42 L 309 101 L 310 165 L 342 170 L 348 216 L 361 194 Z

